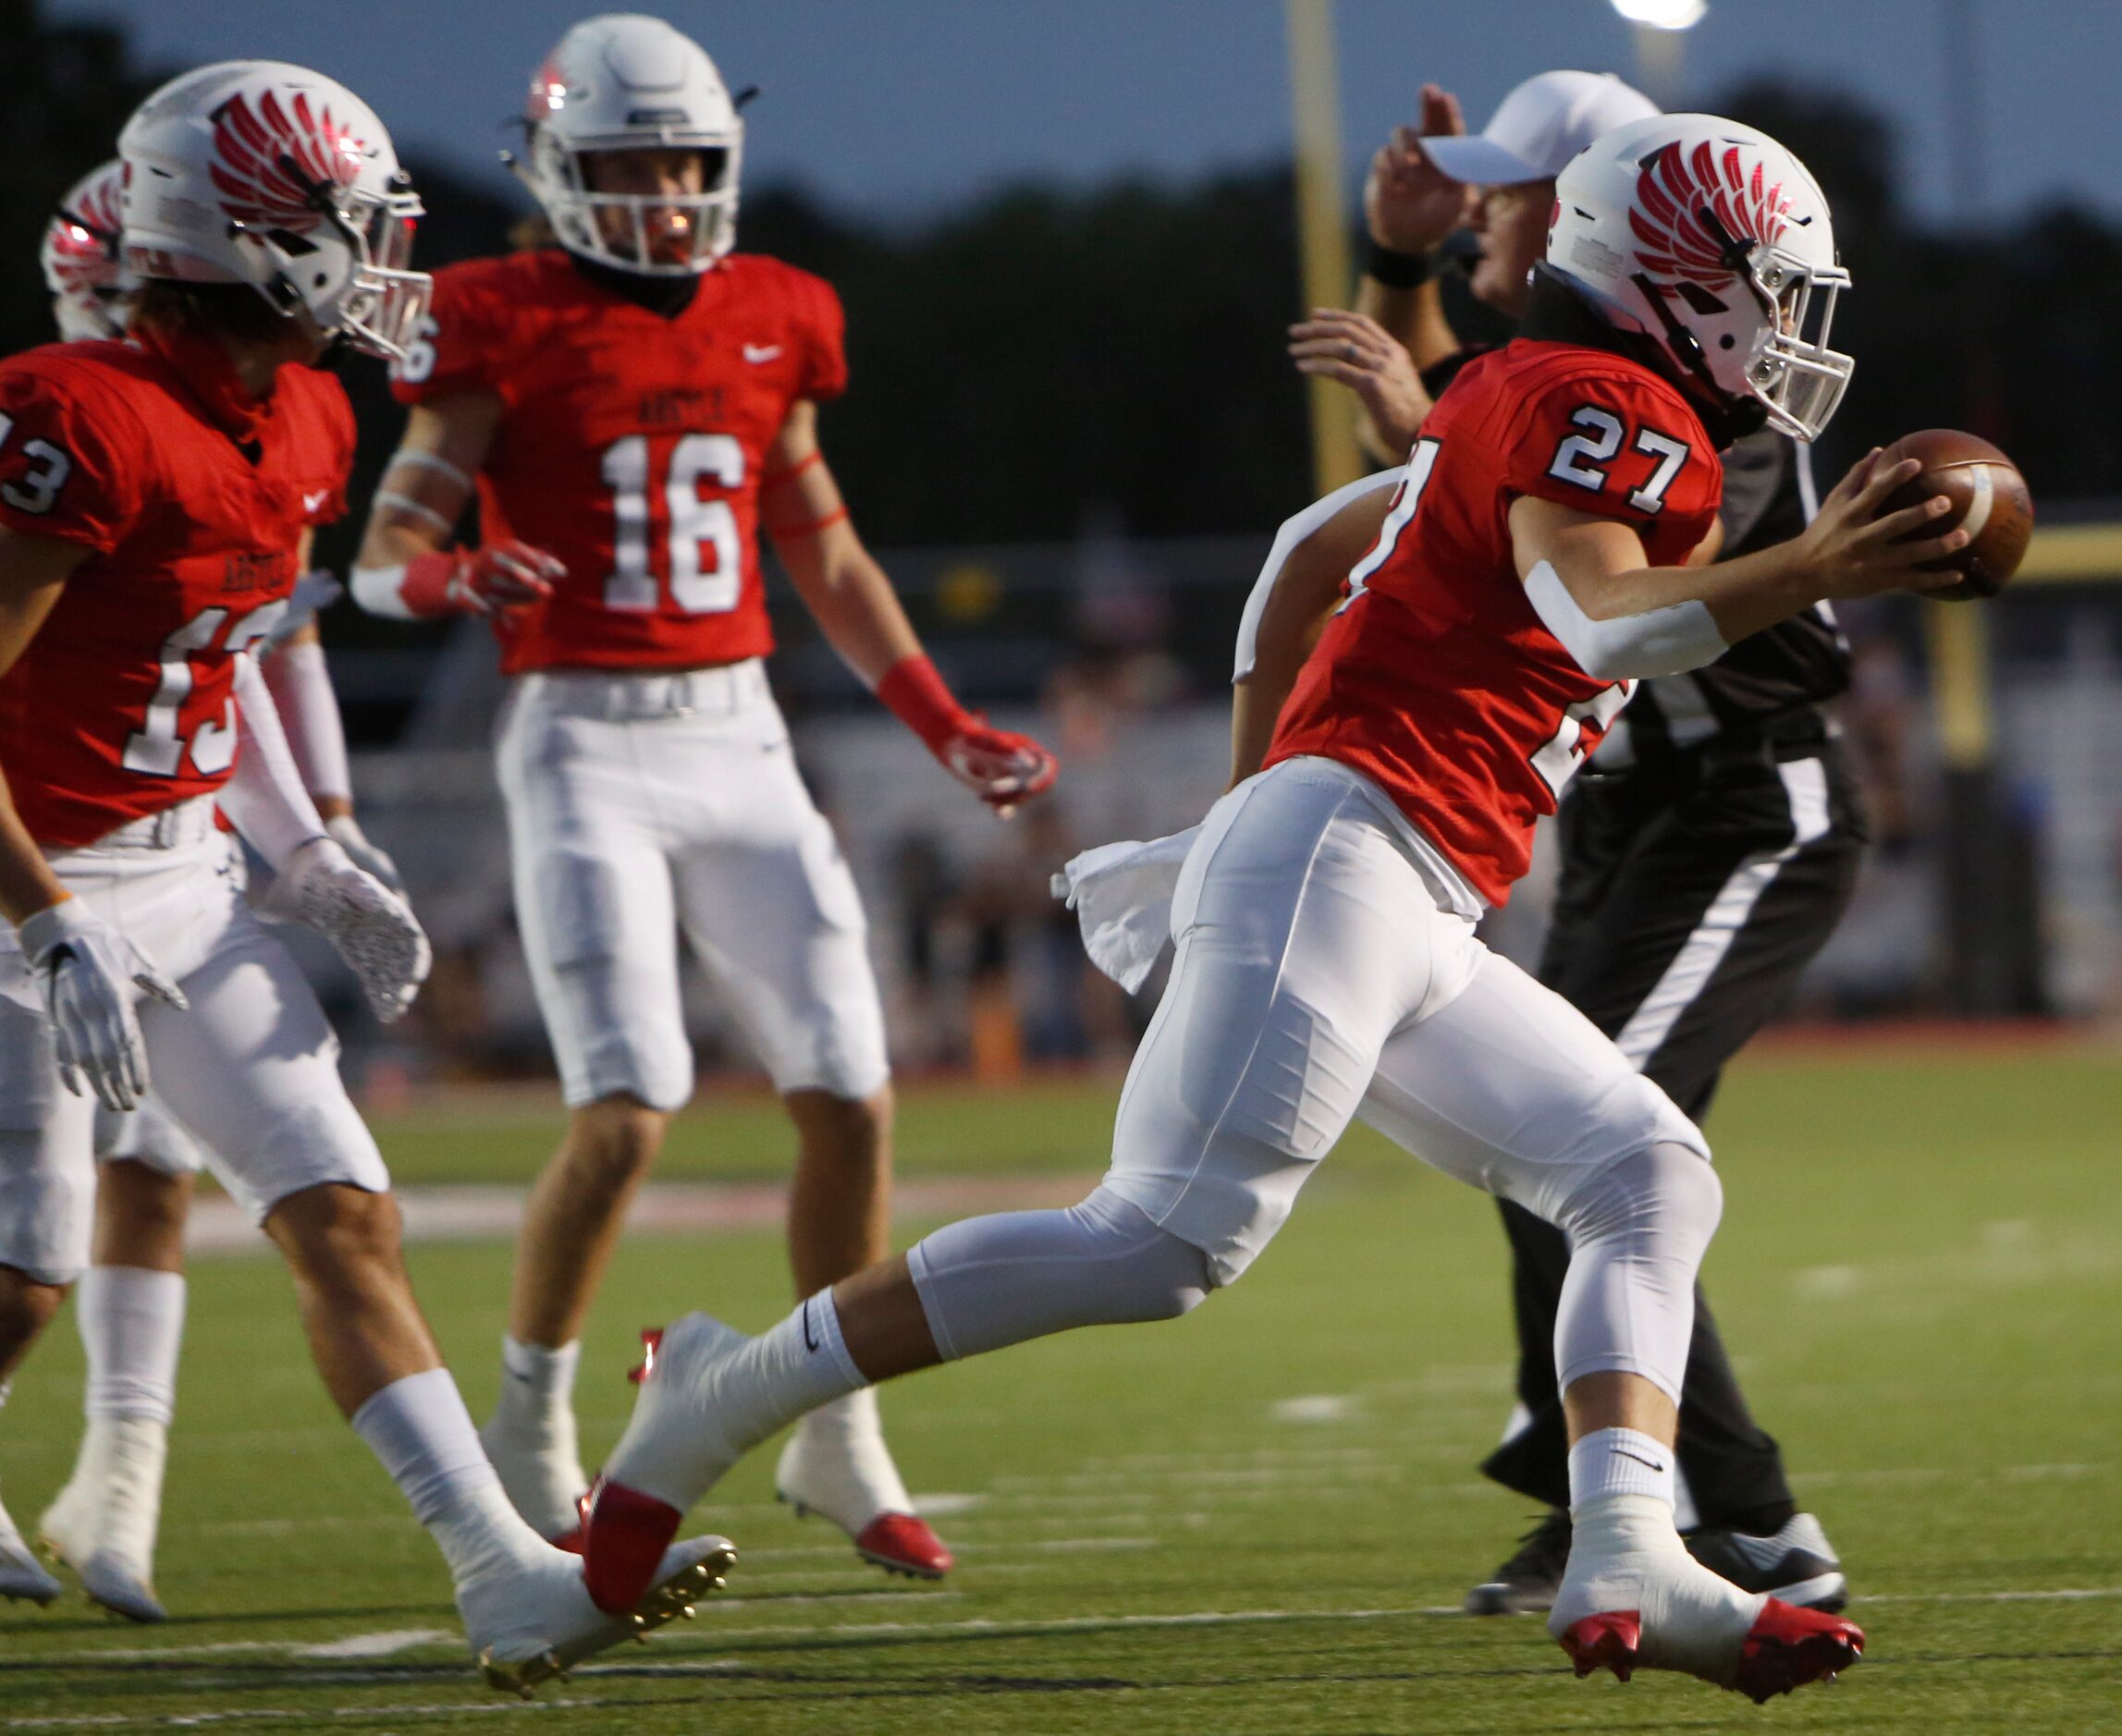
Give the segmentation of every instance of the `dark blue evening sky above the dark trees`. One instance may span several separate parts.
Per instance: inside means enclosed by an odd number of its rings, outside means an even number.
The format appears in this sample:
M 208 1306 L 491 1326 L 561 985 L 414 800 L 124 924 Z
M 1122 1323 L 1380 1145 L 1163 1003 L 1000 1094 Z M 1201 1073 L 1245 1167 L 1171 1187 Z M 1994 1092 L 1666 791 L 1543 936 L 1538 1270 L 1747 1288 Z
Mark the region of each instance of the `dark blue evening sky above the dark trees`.
M 272 55 L 331 72 L 401 142 L 490 170 L 501 121 L 584 0 L 47 0 L 117 17 L 157 62 Z M 1190 176 L 1288 149 L 1280 0 L 681 0 L 730 85 L 758 83 L 747 180 L 796 178 L 887 219 L 1019 176 Z M 1948 112 L 1946 28 L 1971 13 L 1982 102 Z M 1341 0 L 1350 168 L 1422 79 L 1481 125 L 1549 66 L 1632 76 L 1606 0 Z M 1988 214 L 2071 195 L 2122 216 L 2118 0 L 1712 0 L 1687 36 L 1691 104 L 1776 72 L 1859 91 L 1899 129 L 1903 187 L 1952 210 L 1952 136 L 1980 142 Z

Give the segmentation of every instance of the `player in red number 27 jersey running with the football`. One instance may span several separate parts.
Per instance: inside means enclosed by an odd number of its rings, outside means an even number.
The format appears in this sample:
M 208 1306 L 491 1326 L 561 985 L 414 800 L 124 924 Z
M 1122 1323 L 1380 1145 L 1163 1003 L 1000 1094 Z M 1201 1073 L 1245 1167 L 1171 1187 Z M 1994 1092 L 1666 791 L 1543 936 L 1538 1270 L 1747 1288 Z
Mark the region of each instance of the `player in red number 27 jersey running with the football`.
M 1772 138 L 1704 115 L 1606 134 L 1562 172 L 1547 253 L 1575 323 L 1479 357 L 1424 422 L 1267 768 L 1173 874 L 1178 955 L 1103 1184 L 938 1231 L 760 1337 L 705 1314 L 651 1335 L 584 1524 L 603 1596 L 645 1585 L 683 1511 L 838 1392 L 1195 1307 L 1362 1106 L 1575 1248 L 1555 1331 L 1575 1530 L 1549 1630 L 1579 1672 L 1768 1698 L 1855 1662 L 1855 1626 L 1742 1592 L 1674 1528 L 1693 1278 L 1721 1208 L 1702 1135 L 1475 919 L 1636 679 L 1823 594 L 1935 584 L 1920 562 L 1965 535 L 1931 535 L 1942 497 L 1880 514 L 1916 465 L 1874 452 L 1793 541 L 1691 565 L 1721 488 L 1710 424 L 1763 414 L 1810 439 L 1850 371 L 1825 342 L 1848 280 L 1827 204 Z

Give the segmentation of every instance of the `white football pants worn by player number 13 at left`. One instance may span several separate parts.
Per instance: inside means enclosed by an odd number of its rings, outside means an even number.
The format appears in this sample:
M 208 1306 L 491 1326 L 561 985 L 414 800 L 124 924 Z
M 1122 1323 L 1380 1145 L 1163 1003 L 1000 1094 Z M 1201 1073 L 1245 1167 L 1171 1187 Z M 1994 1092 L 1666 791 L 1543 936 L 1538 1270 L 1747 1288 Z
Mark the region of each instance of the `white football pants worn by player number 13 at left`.
M 185 802 L 51 866 L 191 1000 L 189 1012 L 140 1002 L 155 1097 L 255 1220 L 325 1182 L 384 1193 L 390 1176 L 340 1082 L 340 1042 L 244 904 L 212 809 Z M 0 1265 L 45 1284 L 87 1269 L 95 1138 L 95 1099 L 59 1082 L 38 985 L 0 925 Z

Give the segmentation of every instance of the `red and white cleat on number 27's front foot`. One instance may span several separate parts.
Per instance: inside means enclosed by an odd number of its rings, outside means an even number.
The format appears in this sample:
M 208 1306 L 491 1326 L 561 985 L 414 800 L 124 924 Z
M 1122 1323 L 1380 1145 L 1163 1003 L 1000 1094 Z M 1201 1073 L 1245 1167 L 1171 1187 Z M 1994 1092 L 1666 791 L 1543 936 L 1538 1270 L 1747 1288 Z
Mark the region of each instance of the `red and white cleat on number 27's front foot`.
M 1613 1496 L 1581 1513 L 1547 1630 L 1579 1677 L 1676 1670 L 1755 1704 L 1833 1681 L 1863 1657 L 1863 1630 L 1819 1609 L 1742 1592 L 1695 1562 L 1670 1509 Z

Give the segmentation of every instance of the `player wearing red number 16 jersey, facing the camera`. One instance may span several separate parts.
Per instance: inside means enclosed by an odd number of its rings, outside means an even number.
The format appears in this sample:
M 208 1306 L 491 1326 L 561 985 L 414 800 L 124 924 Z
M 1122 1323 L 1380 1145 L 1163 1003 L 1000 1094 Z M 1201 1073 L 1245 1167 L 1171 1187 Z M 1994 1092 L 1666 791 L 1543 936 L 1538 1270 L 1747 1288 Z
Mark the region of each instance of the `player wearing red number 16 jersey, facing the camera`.
M 692 1095 L 675 927 L 796 1123 L 798 1292 L 887 1248 L 883 1017 L 855 883 L 768 692 L 760 531 L 976 796 L 1008 813 L 1055 760 L 951 696 L 849 522 L 817 441 L 847 382 L 840 303 L 730 250 L 743 121 L 713 62 L 658 19 L 590 19 L 533 79 L 526 129 L 516 168 L 560 244 L 437 274 L 352 584 L 386 615 L 488 615 L 511 677 L 516 913 L 569 1127 L 530 1193 L 482 1435 L 524 1517 L 567 1539 L 581 1320 Z M 473 482 L 484 541 L 452 548 Z M 881 1566 L 951 1566 L 868 1392 L 804 1420 L 777 1486 Z

